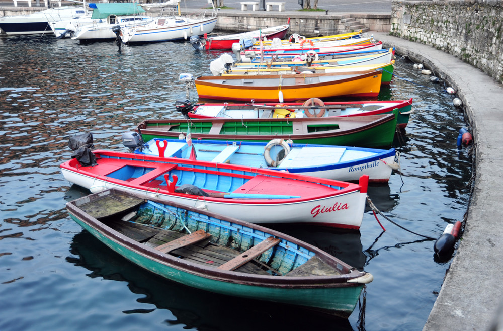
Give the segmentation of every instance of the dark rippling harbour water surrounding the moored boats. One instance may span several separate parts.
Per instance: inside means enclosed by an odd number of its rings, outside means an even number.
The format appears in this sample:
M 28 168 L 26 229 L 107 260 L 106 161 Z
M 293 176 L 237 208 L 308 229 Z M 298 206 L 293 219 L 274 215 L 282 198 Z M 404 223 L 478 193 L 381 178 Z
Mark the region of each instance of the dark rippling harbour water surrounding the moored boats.
M 433 241 L 379 216 L 383 232 L 370 210 L 359 232 L 277 226 L 374 275 L 347 320 L 163 281 L 70 220 L 65 203 L 88 192 L 59 171 L 71 154 L 68 138 L 90 131 L 97 148 L 124 150 L 121 133 L 141 120 L 179 117 L 179 74 L 208 75 L 219 55 L 184 43 L 119 49 L 0 36 L 0 330 L 422 329 L 450 260 L 436 261 Z M 463 219 L 469 201 L 471 155 L 456 146 L 463 114 L 442 84 L 406 59 L 395 73 L 403 79 L 379 99 L 414 98 L 395 141 L 403 175 L 369 195 L 393 221 L 436 238 Z

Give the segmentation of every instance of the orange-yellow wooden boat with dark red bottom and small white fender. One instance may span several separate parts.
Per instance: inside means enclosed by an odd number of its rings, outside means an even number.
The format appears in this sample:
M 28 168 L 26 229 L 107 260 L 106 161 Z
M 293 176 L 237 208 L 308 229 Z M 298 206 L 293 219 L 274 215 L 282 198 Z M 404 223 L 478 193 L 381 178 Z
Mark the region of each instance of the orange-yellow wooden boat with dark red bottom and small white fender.
M 309 98 L 377 97 L 381 71 L 269 75 L 200 76 L 199 98 L 283 102 Z

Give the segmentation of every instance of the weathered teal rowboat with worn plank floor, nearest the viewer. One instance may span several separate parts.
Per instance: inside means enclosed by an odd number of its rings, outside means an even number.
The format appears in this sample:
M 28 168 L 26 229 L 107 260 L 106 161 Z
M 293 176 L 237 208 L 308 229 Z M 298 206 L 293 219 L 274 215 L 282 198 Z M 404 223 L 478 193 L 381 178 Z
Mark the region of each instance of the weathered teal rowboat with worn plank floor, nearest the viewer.
M 286 234 L 144 195 L 111 189 L 66 208 L 127 260 L 201 290 L 348 317 L 373 280 Z

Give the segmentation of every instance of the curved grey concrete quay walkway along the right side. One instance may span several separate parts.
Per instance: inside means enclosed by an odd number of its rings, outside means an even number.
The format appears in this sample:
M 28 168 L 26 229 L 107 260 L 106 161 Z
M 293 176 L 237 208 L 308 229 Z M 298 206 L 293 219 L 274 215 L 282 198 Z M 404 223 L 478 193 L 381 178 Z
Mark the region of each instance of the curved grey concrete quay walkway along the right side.
M 369 33 L 385 47 L 423 63 L 463 101 L 475 142 L 473 191 L 456 255 L 423 330 L 488 330 L 499 317 L 503 292 L 498 279 L 503 270 L 498 247 L 503 239 L 497 209 L 503 201 L 498 186 L 503 170 L 503 88 L 481 70 L 431 46 Z

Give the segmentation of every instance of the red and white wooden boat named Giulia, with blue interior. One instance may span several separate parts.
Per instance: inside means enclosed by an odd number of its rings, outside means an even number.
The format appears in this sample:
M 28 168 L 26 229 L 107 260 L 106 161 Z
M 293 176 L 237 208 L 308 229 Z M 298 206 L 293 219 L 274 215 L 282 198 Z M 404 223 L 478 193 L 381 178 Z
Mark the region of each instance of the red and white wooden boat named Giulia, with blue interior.
M 183 158 L 105 150 L 95 164 L 61 164 L 63 176 L 92 192 L 120 188 L 251 223 L 306 223 L 359 229 L 368 176 L 360 184 Z

